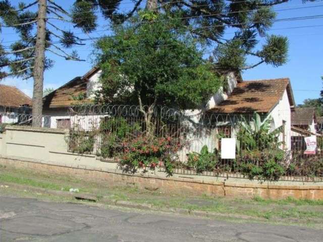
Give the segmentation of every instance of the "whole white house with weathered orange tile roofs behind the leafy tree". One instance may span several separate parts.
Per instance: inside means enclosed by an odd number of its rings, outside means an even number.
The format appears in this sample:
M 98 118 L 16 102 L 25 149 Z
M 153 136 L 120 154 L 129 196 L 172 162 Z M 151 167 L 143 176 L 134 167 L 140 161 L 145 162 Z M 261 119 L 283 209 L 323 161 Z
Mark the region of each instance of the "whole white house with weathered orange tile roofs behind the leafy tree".
M 98 78 L 100 70 L 91 69 L 82 77 L 76 77 L 67 84 L 44 97 L 43 114 L 50 118 L 48 127 L 68 128 L 75 124 L 83 129 L 90 129 L 98 125 L 100 115 L 70 115 L 71 106 L 76 103 L 91 103 L 93 91 L 99 88 Z M 288 78 L 243 81 L 240 75 L 229 73 L 226 75 L 226 88 L 210 97 L 204 110 L 186 110 L 190 124 L 199 124 L 200 117 L 206 110 L 208 115 L 241 116 L 260 113 L 264 118 L 272 117 L 272 129 L 283 126 L 284 132 L 280 137 L 284 141 L 284 149 L 290 149 L 291 109 L 295 106 L 293 91 Z M 81 97 L 81 98 L 79 98 Z M 81 100 L 82 99 L 82 100 Z M 73 111 L 73 110 L 72 110 Z M 220 123 L 219 123 L 220 124 Z M 231 124 L 217 125 L 216 133 L 226 132 L 227 137 L 235 134 Z M 191 137 L 194 138 L 194 137 Z M 204 144 L 208 144 L 211 151 L 217 146 L 214 134 L 199 134 L 188 149 L 199 151 Z M 193 148 L 194 147 L 194 148 Z

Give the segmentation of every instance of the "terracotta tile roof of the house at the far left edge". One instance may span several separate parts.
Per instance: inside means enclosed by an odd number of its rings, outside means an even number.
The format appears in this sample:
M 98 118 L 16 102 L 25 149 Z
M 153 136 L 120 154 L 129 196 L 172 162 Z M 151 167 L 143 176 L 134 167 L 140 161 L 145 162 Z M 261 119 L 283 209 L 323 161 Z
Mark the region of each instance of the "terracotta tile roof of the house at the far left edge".
M 7 85 L 0 85 L 0 105 L 20 107 L 21 105 L 31 105 L 31 98 L 18 88 Z

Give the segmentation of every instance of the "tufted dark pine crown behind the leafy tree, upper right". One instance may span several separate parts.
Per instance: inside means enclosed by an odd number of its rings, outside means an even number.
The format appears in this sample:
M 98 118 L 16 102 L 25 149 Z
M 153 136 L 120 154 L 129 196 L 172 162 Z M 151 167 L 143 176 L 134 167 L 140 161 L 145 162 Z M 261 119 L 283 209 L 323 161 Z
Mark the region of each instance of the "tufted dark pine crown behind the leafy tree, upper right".
M 120 5 L 126 0 L 106 1 L 114 3 L 114 8 L 106 12 L 106 17 L 114 24 L 129 20 L 135 12 L 141 10 L 142 0 L 134 2 L 134 8 L 123 13 Z M 96 10 L 94 7 L 100 1 L 80 1 L 83 11 Z M 147 0 L 146 9 L 155 13 L 168 13 L 168 21 L 173 21 L 181 14 L 181 21 L 187 31 L 199 41 L 213 50 L 213 59 L 218 69 L 245 70 L 254 68 L 262 63 L 281 66 L 287 62 L 288 40 L 286 37 L 266 35 L 275 21 L 276 13 L 272 7 L 286 3 L 288 0 Z M 306 1 L 304 1 L 306 2 Z M 93 20 L 95 23 L 95 20 Z M 235 34 L 226 38 L 225 33 L 230 29 Z M 262 47 L 256 48 L 257 37 L 265 37 Z M 254 64 L 247 64 L 246 58 L 252 55 L 258 58 Z

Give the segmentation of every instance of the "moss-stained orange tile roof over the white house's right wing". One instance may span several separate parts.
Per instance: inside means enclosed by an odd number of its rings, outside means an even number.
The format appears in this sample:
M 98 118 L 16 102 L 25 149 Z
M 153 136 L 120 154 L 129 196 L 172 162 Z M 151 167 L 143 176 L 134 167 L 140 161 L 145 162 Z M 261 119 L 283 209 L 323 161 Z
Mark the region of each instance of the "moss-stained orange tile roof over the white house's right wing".
M 224 100 L 208 112 L 218 113 L 266 113 L 280 101 L 287 89 L 291 106 L 294 97 L 288 78 L 244 81 L 237 84 L 227 100 Z

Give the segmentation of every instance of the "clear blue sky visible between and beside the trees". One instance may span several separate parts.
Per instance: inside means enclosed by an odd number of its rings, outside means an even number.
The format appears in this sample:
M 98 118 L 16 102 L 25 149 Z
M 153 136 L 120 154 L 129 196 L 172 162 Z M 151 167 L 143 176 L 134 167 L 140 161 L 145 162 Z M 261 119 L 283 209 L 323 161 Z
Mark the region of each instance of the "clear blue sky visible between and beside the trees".
M 11 2 L 16 4 L 21 1 Z M 23 2 L 28 4 L 33 1 Z M 57 0 L 55 2 L 70 10 L 74 0 Z M 130 7 L 130 1 L 124 0 L 121 10 L 129 10 Z M 302 0 L 291 0 L 289 3 L 274 7 L 274 10 L 277 12 L 277 19 L 323 15 L 323 1 L 319 0 L 314 3 L 303 4 Z M 93 32 L 90 35 L 82 34 L 79 29 L 76 29 L 74 32 L 79 37 L 84 38 L 110 34 L 109 23 L 106 20 L 99 18 L 98 23 L 97 30 L 99 31 Z M 66 30 L 73 30 L 73 26 L 70 24 L 60 24 L 60 27 Z M 229 37 L 232 31 L 232 29 L 228 29 L 225 37 Z M 323 88 L 320 79 L 323 76 L 323 18 L 277 21 L 267 33 L 288 37 L 289 53 L 287 64 L 278 68 L 262 64 L 254 69 L 244 71 L 242 73 L 243 79 L 259 80 L 287 77 L 291 80 L 297 104 L 302 103 L 306 98 L 319 97 L 320 90 Z M 5 46 L 10 45 L 16 39 L 17 35 L 13 29 L 3 28 L 3 32 L 0 33 L 0 41 Z M 264 40 L 264 38 L 259 38 L 258 45 L 261 46 Z M 66 61 L 61 57 L 47 53 L 47 56 L 55 61 L 55 65 L 50 70 L 45 71 L 44 88 L 56 89 L 73 78 L 84 75 L 93 67 L 93 55 L 91 54 L 93 41 L 85 41 L 84 43 L 86 45 L 77 46 L 74 49 L 78 51 L 80 58 L 86 59 L 86 62 Z M 247 62 L 252 65 L 256 63 L 256 59 L 248 57 Z M 30 97 L 32 96 L 32 79 L 21 80 L 10 77 L 0 81 L 0 84 L 16 86 Z

